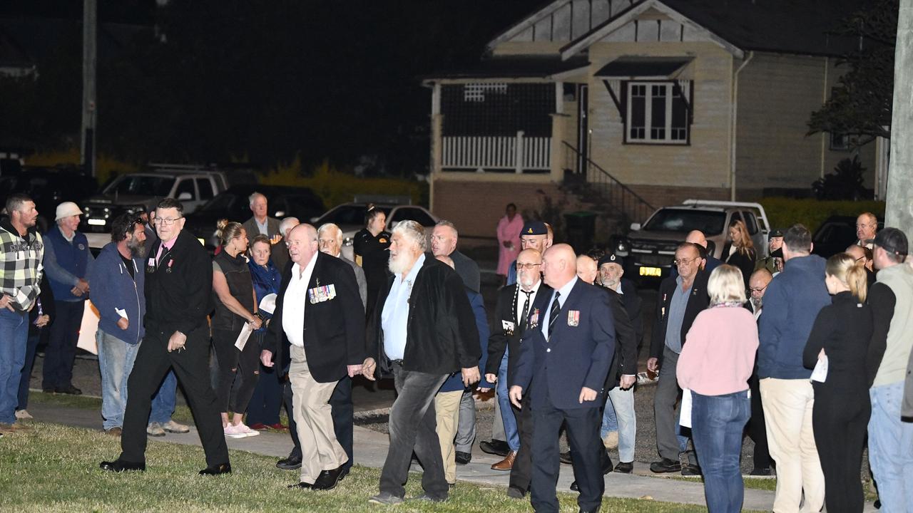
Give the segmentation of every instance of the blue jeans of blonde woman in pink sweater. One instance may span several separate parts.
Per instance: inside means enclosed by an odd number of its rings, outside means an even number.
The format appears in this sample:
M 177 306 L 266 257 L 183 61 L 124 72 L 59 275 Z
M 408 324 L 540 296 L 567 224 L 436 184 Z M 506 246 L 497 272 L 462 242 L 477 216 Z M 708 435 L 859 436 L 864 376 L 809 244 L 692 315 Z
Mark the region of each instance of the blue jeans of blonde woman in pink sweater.
M 691 392 L 691 439 L 704 474 L 710 513 L 738 513 L 745 488 L 739 468 L 741 438 L 751 416 L 748 391 L 726 395 Z

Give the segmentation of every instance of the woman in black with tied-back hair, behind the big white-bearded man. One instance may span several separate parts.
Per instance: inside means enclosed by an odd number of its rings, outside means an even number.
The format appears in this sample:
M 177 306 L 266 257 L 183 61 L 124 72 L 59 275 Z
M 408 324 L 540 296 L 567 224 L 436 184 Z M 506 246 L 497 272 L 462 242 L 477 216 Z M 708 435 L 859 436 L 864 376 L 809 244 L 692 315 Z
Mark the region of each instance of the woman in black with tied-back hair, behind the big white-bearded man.
M 389 276 L 387 261 L 390 253 L 390 232 L 384 228 L 387 225 L 387 215 L 373 204 L 368 205 L 368 212 L 364 215 L 364 228 L 355 234 L 352 251 L 355 254 L 355 263 L 364 269 L 364 278 L 368 282 L 367 315 L 370 318 L 377 296 Z

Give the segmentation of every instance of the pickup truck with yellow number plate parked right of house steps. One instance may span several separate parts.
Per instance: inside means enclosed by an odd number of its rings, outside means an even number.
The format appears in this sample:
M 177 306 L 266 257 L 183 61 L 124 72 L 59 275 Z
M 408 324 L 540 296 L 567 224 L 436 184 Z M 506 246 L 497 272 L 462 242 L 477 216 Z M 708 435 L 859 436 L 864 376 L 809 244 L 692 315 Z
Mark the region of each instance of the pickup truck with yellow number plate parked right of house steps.
M 707 237 L 708 252 L 722 259 L 727 247 L 729 225 L 745 222 L 758 257 L 767 256 L 767 236 L 771 225 L 764 207 L 756 203 L 686 200 L 664 206 L 647 218 L 644 225 L 633 223 L 631 232 L 617 241 L 616 254 L 625 257 L 625 273 L 641 281 L 669 275 L 676 247 L 688 232 L 700 230 Z

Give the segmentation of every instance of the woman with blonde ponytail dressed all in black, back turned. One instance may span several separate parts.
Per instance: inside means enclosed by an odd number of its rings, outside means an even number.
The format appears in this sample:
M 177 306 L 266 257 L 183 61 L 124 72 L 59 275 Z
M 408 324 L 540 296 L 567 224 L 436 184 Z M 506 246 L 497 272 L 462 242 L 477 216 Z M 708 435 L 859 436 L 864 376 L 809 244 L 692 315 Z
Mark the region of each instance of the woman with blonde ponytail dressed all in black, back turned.
M 803 351 L 805 367 L 827 362 L 823 382 L 813 381 L 814 443 L 824 470 L 824 504 L 828 513 L 862 511 L 862 450 L 872 412 L 866 377 L 868 342 L 874 330 L 866 305 L 866 269 L 855 258 L 838 253 L 827 259 L 824 283 L 832 304 L 818 312 Z

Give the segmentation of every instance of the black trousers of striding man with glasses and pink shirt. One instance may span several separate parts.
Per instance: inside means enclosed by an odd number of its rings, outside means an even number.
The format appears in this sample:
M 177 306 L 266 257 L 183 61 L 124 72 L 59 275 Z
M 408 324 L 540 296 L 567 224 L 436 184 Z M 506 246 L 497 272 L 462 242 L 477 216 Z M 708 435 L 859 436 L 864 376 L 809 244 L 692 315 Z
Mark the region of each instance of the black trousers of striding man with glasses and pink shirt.
M 173 328 L 146 326 L 136 363 L 127 382 L 130 393 L 123 418 L 121 460 L 131 463 L 145 461 L 146 424 L 152 408 L 152 395 L 169 369 L 174 369 L 184 388 L 196 430 L 206 454 L 206 466 L 228 462 L 228 447 L 219 416 L 219 406 L 209 382 L 209 328 L 197 328 L 187 334 L 183 351 L 168 352 L 168 339 Z

